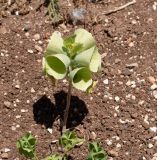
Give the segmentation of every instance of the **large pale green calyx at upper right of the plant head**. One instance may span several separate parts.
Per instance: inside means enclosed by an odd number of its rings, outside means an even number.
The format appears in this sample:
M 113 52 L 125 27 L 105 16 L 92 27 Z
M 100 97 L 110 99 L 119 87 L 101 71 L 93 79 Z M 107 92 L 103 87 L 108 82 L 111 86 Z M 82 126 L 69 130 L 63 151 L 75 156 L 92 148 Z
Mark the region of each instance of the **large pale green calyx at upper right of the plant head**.
M 87 50 L 93 46 L 95 46 L 95 40 L 91 33 L 86 31 L 85 29 L 77 29 L 74 34 L 76 35 L 75 43 L 82 44 L 82 51 Z

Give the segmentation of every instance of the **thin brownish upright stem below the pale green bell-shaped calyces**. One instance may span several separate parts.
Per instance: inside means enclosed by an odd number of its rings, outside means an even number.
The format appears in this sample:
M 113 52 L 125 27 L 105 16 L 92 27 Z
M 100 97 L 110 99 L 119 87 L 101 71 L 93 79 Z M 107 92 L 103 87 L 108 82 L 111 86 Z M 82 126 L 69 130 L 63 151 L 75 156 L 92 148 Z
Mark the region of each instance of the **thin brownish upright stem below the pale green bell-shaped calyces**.
M 72 90 L 72 81 L 69 80 L 69 87 L 68 87 L 68 94 L 67 94 L 67 104 L 64 112 L 64 119 L 63 119 L 63 126 L 62 126 L 62 133 L 66 131 L 66 124 L 68 120 L 68 113 L 70 108 L 70 101 L 71 101 L 71 90 Z

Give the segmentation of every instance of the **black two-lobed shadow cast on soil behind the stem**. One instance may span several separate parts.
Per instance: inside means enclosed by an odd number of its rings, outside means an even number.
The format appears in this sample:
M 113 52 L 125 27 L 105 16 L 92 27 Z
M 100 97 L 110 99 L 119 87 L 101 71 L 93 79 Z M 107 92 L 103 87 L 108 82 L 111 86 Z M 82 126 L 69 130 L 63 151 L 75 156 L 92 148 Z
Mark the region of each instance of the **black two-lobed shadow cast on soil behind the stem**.
M 54 94 L 55 104 L 45 95 L 33 105 L 34 120 L 37 124 L 45 125 L 46 128 L 52 127 L 54 121 L 59 117 L 61 121 L 64 116 L 67 93 L 60 91 Z M 71 97 L 70 112 L 68 116 L 67 128 L 73 128 L 82 123 L 88 109 L 84 101 L 77 96 Z

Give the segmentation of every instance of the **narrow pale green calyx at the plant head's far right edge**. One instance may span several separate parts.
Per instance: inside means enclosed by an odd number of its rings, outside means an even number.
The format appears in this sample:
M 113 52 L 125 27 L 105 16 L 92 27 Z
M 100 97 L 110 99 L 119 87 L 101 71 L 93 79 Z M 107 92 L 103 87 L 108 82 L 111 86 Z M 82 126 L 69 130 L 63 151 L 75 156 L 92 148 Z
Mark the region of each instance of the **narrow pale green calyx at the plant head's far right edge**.
M 94 50 L 89 68 L 92 72 L 97 72 L 101 68 L 101 56 L 100 56 L 97 48 L 95 48 L 95 50 Z

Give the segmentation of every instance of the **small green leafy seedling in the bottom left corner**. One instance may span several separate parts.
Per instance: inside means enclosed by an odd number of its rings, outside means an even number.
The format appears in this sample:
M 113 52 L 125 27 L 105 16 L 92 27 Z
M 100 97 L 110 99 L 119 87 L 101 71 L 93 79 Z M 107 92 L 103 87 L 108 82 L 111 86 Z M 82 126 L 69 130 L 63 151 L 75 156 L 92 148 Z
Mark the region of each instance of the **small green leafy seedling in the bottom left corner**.
M 30 133 L 26 133 L 16 142 L 16 147 L 19 150 L 19 153 L 26 158 L 33 158 L 35 156 L 35 145 L 36 139 Z

